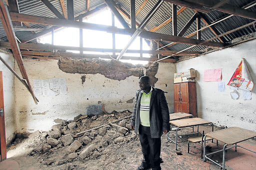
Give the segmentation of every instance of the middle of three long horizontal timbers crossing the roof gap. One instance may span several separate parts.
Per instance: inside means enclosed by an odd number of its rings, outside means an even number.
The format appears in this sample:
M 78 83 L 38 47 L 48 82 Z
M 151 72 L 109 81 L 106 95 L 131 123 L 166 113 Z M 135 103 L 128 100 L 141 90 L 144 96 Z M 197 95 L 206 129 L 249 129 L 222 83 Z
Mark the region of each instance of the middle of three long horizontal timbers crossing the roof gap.
M 50 45 L 50 44 L 35 44 L 35 43 L 18 43 L 20 49 L 26 49 L 26 50 L 77 50 L 77 51 L 93 51 L 93 52 L 115 52 L 120 53 L 121 49 L 108 49 L 108 48 L 88 48 L 88 47 L 72 47 L 72 46 L 62 46 L 62 45 Z M 9 42 L 0 42 L 0 48 L 11 48 Z M 177 51 L 171 51 L 171 50 L 127 50 L 127 53 L 145 53 L 145 54 L 161 54 L 161 55 L 171 55 L 174 54 Z M 198 55 L 201 54 L 200 51 L 184 51 L 180 53 L 179 55 Z M 36 55 L 36 52 L 30 53 L 29 52 L 23 52 L 22 54 L 27 55 Z M 42 52 L 40 53 L 42 54 Z M 40 55 L 39 53 L 37 55 Z

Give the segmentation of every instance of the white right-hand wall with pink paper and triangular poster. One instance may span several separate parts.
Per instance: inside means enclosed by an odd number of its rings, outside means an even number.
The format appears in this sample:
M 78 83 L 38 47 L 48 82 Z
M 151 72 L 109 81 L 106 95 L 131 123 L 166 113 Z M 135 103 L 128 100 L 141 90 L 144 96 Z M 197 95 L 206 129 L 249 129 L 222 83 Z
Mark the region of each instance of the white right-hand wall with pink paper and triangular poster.
M 231 99 L 231 90 L 226 85 L 242 57 L 247 61 L 254 82 L 251 100 Z M 256 131 L 256 40 L 176 63 L 177 72 L 189 68 L 194 68 L 197 74 L 198 117 L 218 126 L 237 126 Z M 225 82 L 224 92 L 218 92 L 217 82 L 203 82 L 203 71 L 216 68 L 222 68 L 221 81 Z

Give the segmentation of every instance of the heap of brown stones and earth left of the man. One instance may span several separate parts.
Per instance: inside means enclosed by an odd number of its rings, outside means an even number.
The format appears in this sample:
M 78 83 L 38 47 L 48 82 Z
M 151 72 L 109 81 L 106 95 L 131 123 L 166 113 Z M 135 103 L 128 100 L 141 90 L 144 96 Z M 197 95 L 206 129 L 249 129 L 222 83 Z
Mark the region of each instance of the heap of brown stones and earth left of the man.
M 134 132 L 130 132 L 130 115 L 129 111 L 114 111 L 93 117 L 79 115 L 71 121 L 58 119 L 59 124 L 53 125 L 50 131 L 37 133 L 36 144 L 33 143 L 29 156 L 47 166 L 74 161 L 84 163 L 101 155 L 106 159 L 113 154 L 105 150 L 107 147 L 111 146 L 114 152 L 112 147 L 120 148 L 138 139 Z

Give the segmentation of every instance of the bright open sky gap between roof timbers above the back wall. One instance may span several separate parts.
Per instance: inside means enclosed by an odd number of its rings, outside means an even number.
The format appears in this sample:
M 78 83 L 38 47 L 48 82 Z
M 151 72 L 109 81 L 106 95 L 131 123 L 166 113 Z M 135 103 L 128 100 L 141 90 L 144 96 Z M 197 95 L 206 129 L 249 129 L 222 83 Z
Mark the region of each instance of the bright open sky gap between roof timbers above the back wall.
M 123 28 L 120 22 L 114 17 L 115 26 L 118 28 Z M 103 25 L 111 25 L 111 11 L 109 9 L 103 10 L 95 15 L 92 15 L 88 18 L 84 18 L 83 22 L 89 23 L 97 23 Z M 120 35 L 115 34 L 115 49 L 123 49 L 128 41 L 130 40 L 129 35 Z M 40 38 L 41 43 L 51 43 L 51 35 L 46 35 Z M 54 45 L 63 45 L 63 46 L 79 46 L 79 29 L 78 28 L 64 28 L 59 31 L 54 32 Z M 83 29 L 83 47 L 89 48 L 108 48 L 112 49 L 112 33 L 96 31 L 96 30 L 88 30 Z M 139 37 L 130 45 L 128 49 L 136 49 L 139 50 L 140 47 L 140 39 Z M 142 49 L 149 50 L 148 44 L 143 39 Z M 79 53 L 79 51 L 70 51 L 74 53 Z M 111 52 L 93 52 L 93 51 L 84 51 L 84 54 L 109 54 L 112 55 Z M 115 53 L 118 55 L 118 53 Z M 149 57 L 149 54 L 142 54 L 143 57 Z M 139 57 L 139 53 L 125 53 L 124 56 L 130 57 Z M 129 62 L 132 64 L 147 64 L 148 61 L 139 61 L 139 60 L 124 60 L 120 59 L 122 62 Z

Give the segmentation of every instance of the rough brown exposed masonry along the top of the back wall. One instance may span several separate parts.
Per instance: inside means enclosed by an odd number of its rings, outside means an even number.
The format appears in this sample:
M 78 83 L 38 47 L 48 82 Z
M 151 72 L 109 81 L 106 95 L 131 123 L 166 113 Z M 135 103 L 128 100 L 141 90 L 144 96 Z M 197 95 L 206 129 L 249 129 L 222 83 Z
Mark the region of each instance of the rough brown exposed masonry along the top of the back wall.
M 66 73 L 80 74 L 102 74 L 107 78 L 114 80 L 124 80 L 129 76 L 143 76 L 143 69 L 146 68 L 146 75 L 152 80 L 152 85 L 157 81 L 154 77 L 158 70 L 157 63 L 150 63 L 146 66 L 132 65 L 116 60 L 100 60 L 100 59 L 74 59 L 61 58 L 58 61 L 59 69 Z M 81 77 L 83 81 L 84 77 Z

